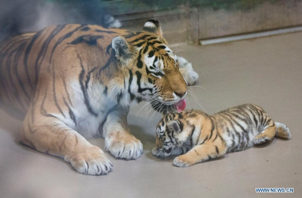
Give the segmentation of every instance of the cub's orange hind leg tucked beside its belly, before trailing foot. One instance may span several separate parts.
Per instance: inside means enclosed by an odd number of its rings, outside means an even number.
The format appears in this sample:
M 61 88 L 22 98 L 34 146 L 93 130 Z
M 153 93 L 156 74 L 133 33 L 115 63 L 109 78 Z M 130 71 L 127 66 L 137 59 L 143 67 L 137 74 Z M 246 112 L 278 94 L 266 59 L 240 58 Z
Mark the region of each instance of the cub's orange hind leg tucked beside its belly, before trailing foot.
M 274 121 L 271 120 L 263 128 L 264 129 L 261 131 L 261 133 L 255 137 L 255 139 L 254 139 L 255 144 L 262 144 L 264 142 L 271 141 L 274 138 L 275 133 L 276 133 L 276 125 L 275 125 Z

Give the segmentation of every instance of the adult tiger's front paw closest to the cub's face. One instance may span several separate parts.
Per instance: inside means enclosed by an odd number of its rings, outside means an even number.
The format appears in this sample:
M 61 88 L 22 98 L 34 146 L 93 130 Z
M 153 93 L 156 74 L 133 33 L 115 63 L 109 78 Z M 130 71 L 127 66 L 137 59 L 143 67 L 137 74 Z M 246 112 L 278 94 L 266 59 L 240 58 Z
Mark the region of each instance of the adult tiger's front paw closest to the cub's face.
M 106 151 L 116 158 L 137 159 L 142 155 L 143 144 L 126 132 L 111 132 L 105 138 Z

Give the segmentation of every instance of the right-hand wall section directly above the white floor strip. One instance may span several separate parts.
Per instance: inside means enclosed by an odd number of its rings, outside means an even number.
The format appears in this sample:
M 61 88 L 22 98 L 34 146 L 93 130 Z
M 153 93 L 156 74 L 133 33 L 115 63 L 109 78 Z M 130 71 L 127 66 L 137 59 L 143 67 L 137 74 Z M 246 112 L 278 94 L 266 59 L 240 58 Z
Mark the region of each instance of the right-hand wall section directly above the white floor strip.
M 253 9 L 199 9 L 199 39 L 274 30 L 302 24 L 302 2 L 265 2 Z

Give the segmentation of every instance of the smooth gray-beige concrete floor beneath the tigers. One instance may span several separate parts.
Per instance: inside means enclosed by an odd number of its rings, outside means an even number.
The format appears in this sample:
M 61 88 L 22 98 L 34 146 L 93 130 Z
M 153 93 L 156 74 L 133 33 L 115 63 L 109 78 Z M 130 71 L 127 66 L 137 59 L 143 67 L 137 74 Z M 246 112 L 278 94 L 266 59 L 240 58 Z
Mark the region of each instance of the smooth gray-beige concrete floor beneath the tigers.
M 146 115 L 146 110 L 137 114 L 142 103 L 132 108 L 128 121 L 144 145 L 143 155 L 125 161 L 107 153 L 114 171 L 86 176 L 59 158 L 20 145 L 21 122 L 0 111 L 0 197 L 284 197 L 284 193 L 256 193 L 255 187 L 291 187 L 294 193 L 285 196 L 301 197 L 302 32 L 173 49 L 199 73 L 197 85 L 204 89 L 191 90 L 207 113 L 255 103 L 285 123 L 292 139 L 274 139 L 262 147 L 178 168 L 172 158 L 151 155 L 160 115 L 154 111 Z M 188 97 L 187 109 L 201 110 L 194 100 Z M 104 149 L 103 139 L 89 141 Z

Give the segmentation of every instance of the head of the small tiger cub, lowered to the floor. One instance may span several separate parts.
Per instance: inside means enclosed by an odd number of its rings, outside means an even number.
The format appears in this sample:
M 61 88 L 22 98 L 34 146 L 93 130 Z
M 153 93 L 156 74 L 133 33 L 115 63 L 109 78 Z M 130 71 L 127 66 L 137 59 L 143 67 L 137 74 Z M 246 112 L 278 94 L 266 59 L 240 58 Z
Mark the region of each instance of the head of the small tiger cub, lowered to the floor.
M 183 111 L 184 113 L 187 111 Z M 156 127 L 156 143 L 152 154 L 156 157 L 181 155 L 190 149 L 191 125 L 184 113 L 169 113 Z

